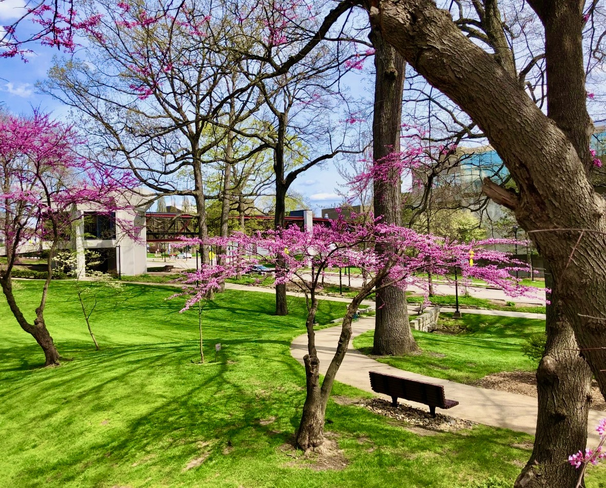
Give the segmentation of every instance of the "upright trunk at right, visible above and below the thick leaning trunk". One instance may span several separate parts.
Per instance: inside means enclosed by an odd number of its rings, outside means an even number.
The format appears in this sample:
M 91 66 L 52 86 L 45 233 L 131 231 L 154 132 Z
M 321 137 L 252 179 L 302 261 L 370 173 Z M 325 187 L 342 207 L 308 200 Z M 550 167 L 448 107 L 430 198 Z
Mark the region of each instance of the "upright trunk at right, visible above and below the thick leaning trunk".
M 553 16 L 547 13 L 546 5 L 536 1 L 530 4 L 545 26 L 547 116 L 568 137 L 579 158 L 587 160 L 590 156 L 588 128 L 593 125 L 585 103 L 581 43 L 574 42 L 575 36 L 581 40 L 582 13 L 577 5 L 576 15 L 568 12 L 568 15 Z M 562 5 L 569 10 L 572 4 Z M 573 19 L 576 26 L 565 28 L 566 22 L 562 20 L 567 17 Z M 561 41 L 567 45 L 565 52 L 560 52 Z M 570 90 L 568 81 L 572 81 L 576 90 Z M 570 286 L 570 282 L 565 276 L 551 273 L 549 260 L 545 260 L 545 268 L 545 286 L 555 292 L 551 294 L 547 314 L 547 345 L 537 371 L 537 430 L 533 453 L 516 480 L 516 488 L 576 487 L 578 470 L 565 460 L 573 452 L 584 451 L 587 444 L 591 370 L 576 351 L 574 331 L 559 300 L 561 291 Z

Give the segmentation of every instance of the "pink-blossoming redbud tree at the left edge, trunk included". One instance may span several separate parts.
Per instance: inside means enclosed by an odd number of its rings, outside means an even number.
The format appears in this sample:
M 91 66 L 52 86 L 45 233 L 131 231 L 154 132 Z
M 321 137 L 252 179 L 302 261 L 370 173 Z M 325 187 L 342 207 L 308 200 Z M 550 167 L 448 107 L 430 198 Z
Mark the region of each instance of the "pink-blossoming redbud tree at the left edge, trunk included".
M 79 156 L 75 130 L 47 115 L 0 118 L 0 237 L 7 262 L 0 266 L 0 286 L 19 326 L 44 351 L 45 366 L 59 364 L 44 311 L 56 251 L 70 245 L 72 226 L 85 205 L 101 214 L 127 208 L 119 196 L 130 178 Z M 122 202 L 122 203 L 119 203 Z M 117 223 L 119 225 L 119 223 Z M 128 229 L 136 234 L 136 229 Z M 47 249 L 47 277 L 33 323 L 25 318 L 13 290 L 12 272 L 20 252 Z

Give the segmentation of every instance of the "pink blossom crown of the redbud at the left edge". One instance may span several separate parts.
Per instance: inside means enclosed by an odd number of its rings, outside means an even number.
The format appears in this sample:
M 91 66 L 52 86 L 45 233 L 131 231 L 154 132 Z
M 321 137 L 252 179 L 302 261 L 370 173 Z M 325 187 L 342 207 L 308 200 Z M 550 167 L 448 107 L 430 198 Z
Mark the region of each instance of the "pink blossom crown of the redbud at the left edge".
M 8 188 L 0 191 L 0 214 L 10 217 L 0 233 L 13 247 L 32 237 L 57 239 L 55 231 L 68 236 L 78 205 L 106 214 L 128 208 L 119 197 L 135 178 L 82 158 L 75 150 L 81 143 L 73 127 L 46 114 L 0 119 L 0 182 Z

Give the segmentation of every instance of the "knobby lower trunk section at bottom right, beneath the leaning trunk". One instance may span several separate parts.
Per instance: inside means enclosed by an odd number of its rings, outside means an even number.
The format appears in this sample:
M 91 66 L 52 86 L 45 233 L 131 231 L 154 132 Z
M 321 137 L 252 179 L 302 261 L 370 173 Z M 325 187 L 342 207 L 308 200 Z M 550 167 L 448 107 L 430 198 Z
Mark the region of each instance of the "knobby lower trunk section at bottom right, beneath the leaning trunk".
M 558 288 L 545 272 L 545 286 Z M 567 458 L 587 443 L 591 370 L 578 351 L 557 294 L 547 306 L 547 344 L 536 373 L 538 417 L 534 449 L 516 488 L 574 488 L 579 470 Z

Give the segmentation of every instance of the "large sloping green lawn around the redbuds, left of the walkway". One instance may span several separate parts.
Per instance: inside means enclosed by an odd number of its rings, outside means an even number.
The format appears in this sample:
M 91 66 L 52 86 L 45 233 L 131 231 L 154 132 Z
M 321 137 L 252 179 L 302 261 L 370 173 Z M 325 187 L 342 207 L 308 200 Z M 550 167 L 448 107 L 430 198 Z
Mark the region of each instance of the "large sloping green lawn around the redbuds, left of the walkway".
M 19 286 L 32 317 L 40 283 Z M 95 351 L 72 286 L 52 283 L 48 298 L 48 327 L 73 359 L 61 368 L 38 368 L 40 349 L 0 301 L 2 487 L 501 488 L 530 454 L 512 446 L 528 435 L 479 426 L 419 436 L 330 401 L 327 430 L 348 465 L 301 467 L 281 446 L 304 401 L 304 370 L 288 349 L 304 332 L 302 300 L 289 297 L 291 314 L 274 317 L 271 294 L 218 295 L 204 310 L 210 362 L 200 365 L 197 312 L 179 314 L 180 299 L 164 300 L 170 288 L 126 285 L 119 300 L 102 302 L 92 318 Z M 318 320 L 343 312 L 342 303 L 322 302 Z M 334 393 L 366 395 L 342 384 Z M 187 469 L 192 462 L 199 466 Z M 491 476 L 507 481 L 476 484 Z

